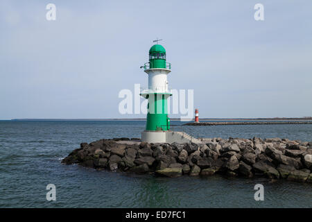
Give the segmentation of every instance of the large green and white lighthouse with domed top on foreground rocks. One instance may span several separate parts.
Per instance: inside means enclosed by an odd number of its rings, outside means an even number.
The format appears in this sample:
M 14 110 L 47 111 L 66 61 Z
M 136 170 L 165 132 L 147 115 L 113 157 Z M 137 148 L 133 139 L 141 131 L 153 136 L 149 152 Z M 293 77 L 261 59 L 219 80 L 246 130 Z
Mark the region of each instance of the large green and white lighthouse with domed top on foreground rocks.
M 166 142 L 170 130 L 167 99 L 172 95 L 168 87 L 171 63 L 166 62 L 166 49 L 158 41 L 150 47 L 149 61 L 141 66 L 148 74 L 148 88 L 141 89 L 140 93 L 148 99 L 146 130 L 141 133 L 141 141 L 149 143 Z

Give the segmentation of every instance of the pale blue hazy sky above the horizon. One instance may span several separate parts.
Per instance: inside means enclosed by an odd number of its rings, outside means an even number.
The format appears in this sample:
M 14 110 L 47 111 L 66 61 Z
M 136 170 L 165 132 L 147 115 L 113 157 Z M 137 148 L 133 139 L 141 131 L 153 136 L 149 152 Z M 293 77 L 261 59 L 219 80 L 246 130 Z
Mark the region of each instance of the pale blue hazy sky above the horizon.
M 46 20 L 55 3 L 56 21 Z M 263 3 L 262 22 L 254 5 Z M 141 118 L 121 89 L 163 39 L 200 117 L 312 116 L 312 1 L 0 1 L 0 119 Z M 171 117 L 178 117 L 172 115 Z

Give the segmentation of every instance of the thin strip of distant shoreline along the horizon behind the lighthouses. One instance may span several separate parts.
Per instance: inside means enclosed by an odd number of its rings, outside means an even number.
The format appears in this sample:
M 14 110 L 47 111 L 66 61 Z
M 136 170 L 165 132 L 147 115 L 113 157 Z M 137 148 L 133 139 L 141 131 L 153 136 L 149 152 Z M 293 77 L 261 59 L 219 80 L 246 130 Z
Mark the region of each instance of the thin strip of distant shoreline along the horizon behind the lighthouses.
M 3 119 L 5 120 L 5 119 Z M 138 119 L 8 119 L 7 121 L 146 121 L 145 118 Z M 171 121 L 180 121 L 172 118 Z M 193 121 L 193 120 L 192 120 Z M 312 117 L 302 118 L 200 118 L 200 121 L 312 121 Z

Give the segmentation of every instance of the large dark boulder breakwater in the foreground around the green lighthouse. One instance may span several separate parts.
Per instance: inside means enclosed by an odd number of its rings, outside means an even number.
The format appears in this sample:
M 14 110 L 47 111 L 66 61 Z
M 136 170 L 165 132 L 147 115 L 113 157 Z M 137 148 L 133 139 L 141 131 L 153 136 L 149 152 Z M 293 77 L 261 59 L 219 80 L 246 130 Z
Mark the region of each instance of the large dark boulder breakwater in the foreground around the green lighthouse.
M 62 163 L 171 178 L 221 173 L 312 182 L 312 142 L 230 137 L 203 139 L 202 144 L 148 144 L 101 139 L 80 144 Z

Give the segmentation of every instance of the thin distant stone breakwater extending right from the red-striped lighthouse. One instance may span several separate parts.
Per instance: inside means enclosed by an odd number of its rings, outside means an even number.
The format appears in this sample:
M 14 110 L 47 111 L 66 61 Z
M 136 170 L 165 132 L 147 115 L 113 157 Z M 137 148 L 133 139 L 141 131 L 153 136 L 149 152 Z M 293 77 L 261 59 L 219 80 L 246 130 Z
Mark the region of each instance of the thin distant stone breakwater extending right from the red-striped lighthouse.
M 199 122 L 185 123 L 185 126 L 219 126 L 219 125 L 275 125 L 275 124 L 312 124 L 312 121 L 231 121 L 231 122 Z

